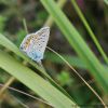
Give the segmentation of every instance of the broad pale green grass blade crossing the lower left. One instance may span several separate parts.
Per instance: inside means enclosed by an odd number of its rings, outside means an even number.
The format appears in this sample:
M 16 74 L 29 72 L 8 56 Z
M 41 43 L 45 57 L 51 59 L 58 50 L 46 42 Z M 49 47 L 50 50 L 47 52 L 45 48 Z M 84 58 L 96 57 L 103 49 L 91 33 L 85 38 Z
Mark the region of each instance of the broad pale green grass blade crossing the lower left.
M 66 108 L 67 106 L 71 108 L 72 105 L 76 106 L 73 102 L 67 98 L 67 96 L 51 83 L 2 51 L 0 51 L 0 67 L 44 98 L 52 106 L 56 108 Z

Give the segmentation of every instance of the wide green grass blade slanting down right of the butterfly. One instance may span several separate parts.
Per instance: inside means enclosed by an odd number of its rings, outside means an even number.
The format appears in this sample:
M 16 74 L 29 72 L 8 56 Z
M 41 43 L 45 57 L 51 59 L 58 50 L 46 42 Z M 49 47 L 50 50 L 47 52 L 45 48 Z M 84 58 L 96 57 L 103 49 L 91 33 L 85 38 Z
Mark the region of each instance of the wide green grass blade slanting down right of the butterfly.
M 108 72 L 103 68 L 94 53 L 86 45 L 84 40 L 81 38 L 77 29 L 68 21 L 65 14 L 56 5 L 54 0 L 41 0 L 44 8 L 53 16 L 53 19 L 68 40 L 71 48 L 78 53 L 78 55 L 87 65 L 87 69 L 91 75 L 95 78 L 103 90 L 108 93 Z

